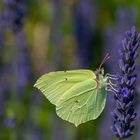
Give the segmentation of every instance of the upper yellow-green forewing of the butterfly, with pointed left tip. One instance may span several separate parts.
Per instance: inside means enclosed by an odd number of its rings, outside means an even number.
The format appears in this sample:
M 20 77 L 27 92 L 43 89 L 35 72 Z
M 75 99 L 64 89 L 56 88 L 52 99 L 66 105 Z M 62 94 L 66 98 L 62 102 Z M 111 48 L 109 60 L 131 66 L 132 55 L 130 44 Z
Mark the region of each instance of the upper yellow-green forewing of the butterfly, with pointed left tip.
M 96 75 L 90 70 L 57 71 L 43 75 L 34 86 L 57 106 L 68 90 L 78 87 L 79 83 L 88 79 L 96 79 Z

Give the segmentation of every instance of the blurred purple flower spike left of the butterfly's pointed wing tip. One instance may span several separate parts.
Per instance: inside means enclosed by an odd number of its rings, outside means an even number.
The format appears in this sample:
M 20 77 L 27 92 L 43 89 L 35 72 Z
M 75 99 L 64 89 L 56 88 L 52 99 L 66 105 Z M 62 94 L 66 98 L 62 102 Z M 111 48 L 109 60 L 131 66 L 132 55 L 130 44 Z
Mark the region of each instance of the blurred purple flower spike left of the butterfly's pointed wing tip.
M 17 34 L 17 60 L 16 60 L 16 75 L 17 75 L 17 92 L 21 95 L 24 88 L 32 80 L 31 61 L 27 49 L 24 32 Z

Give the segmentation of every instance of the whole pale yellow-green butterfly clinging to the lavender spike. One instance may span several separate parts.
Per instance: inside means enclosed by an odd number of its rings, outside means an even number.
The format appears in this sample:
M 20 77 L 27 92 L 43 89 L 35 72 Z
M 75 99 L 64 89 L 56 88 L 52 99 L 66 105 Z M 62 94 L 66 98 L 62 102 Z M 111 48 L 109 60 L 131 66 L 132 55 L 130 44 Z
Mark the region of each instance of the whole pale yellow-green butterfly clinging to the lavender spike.
M 41 76 L 34 87 L 56 106 L 57 115 L 76 127 L 90 120 L 95 120 L 106 104 L 107 91 L 116 92 L 110 79 L 104 75 L 103 59 L 95 72 L 86 69 L 49 72 Z

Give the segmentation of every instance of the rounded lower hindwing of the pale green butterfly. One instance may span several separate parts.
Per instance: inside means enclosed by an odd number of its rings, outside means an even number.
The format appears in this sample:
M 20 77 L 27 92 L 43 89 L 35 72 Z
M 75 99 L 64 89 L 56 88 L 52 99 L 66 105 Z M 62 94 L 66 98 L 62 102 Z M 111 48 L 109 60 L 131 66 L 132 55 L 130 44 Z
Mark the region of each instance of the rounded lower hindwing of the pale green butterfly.
M 96 119 L 105 107 L 106 92 L 97 89 L 95 80 L 87 80 L 67 91 L 56 106 L 59 117 L 76 126 Z

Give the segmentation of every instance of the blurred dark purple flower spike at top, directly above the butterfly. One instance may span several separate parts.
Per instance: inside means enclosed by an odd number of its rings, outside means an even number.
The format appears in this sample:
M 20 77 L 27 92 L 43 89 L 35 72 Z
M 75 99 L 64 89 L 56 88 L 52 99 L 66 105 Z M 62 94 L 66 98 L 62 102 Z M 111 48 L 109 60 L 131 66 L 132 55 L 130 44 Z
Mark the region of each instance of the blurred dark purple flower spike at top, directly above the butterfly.
M 93 29 L 97 21 L 95 13 L 97 14 L 96 8 L 92 6 L 91 0 L 81 0 L 73 8 L 77 54 L 81 67 L 89 67 L 92 58 Z

